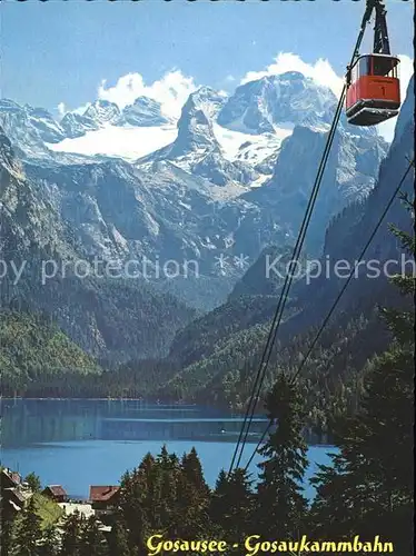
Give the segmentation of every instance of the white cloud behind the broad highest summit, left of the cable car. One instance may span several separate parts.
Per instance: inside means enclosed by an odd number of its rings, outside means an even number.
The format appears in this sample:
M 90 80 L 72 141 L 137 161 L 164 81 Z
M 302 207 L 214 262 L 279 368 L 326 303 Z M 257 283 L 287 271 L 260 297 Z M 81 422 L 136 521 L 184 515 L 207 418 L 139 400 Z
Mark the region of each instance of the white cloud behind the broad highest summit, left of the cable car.
M 305 77 L 310 77 L 317 85 L 329 87 L 333 92 L 339 96 L 344 79 L 336 75 L 328 60 L 321 58 L 315 63 L 304 62 L 299 56 L 291 52 L 279 52 L 275 61 L 263 71 L 249 71 L 241 79 L 241 83 L 260 79 L 265 76 L 278 76 L 286 71 L 299 71 Z

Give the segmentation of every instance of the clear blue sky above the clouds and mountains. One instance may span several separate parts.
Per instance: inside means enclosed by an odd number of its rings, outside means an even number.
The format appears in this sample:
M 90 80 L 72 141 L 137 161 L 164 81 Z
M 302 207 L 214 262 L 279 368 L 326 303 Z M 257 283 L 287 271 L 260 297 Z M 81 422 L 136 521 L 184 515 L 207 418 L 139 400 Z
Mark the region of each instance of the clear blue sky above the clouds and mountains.
M 392 49 L 412 57 L 414 4 L 386 3 Z M 351 0 L 3 1 L 1 96 L 75 109 L 97 98 L 102 80 L 109 88 L 139 73 L 150 86 L 174 69 L 178 79 L 231 90 L 279 52 L 328 59 L 343 75 L 363 10 Z

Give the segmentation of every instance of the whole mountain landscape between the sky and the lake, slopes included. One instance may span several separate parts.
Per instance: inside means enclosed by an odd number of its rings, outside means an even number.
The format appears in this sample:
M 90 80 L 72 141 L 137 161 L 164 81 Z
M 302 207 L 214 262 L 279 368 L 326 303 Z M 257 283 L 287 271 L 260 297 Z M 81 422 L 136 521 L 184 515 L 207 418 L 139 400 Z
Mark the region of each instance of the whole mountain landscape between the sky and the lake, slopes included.
M 341 117 L 304 265 L 358 255 L 392 177 L 413 156 L 412 102 L 410 93 L 392 146 L 374 128 L 353 132 Z M 60 122 L 2 100 L 1 310 L 6 322 L 41 314 L 48 334 L 58 327 L 100 369 L 80 376 L 75 357 L 39 370 L 38 340 L 28 336 L 16 359 L 3 329 L 6 395 L 145 396 L 242 410 L 335 103 L 298 72 L 248 82 L 230 97 L 202 87 L 176 121 L 145 97 L 122 110 L 97 100 Z M 392 219 L 409 229 L 399 202 Z M 383 260 L 399 256 L 387 219 L 370 249 Z M 280 274 L 266 276 L 270 257 Z M 17 280 L 10 268 L 19 264 Z M 317 430 L 337 406 L 354 406 L 356 373 L 389 341 L 375 301 L 396 301 L 392 287 L 383 277 L 357 278 L 305 369 Z M 296 281 L 266 389 L 276 366 L 295 370 L 341 284 Z M 67 371 L 51 370 L 59 366 Z

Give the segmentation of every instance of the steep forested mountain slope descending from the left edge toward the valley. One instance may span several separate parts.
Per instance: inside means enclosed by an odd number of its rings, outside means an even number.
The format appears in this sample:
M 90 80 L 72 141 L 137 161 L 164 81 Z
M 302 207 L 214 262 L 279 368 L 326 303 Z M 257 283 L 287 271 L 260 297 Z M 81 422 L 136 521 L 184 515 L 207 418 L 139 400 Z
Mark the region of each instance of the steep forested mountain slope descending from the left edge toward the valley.
M 194 311 L 145 280 L 97 277 L 88 247 L 75 239 L 48 191 L 28 178 L 2 132 L 0 171 L 0 254 L 6 269 L 0 308 L 46 314 L 99 358 L 166 355 L 175 331 Z M 83 265 L 78 272 L 79 260 Z

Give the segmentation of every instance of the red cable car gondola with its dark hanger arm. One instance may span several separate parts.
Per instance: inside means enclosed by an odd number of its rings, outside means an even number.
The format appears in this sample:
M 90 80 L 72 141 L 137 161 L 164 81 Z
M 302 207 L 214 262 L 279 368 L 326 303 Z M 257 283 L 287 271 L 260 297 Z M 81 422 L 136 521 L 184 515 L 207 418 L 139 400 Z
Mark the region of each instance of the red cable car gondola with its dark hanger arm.
M 390 56 L 386 10 L 368 0 L 365 18 L 376 10 L 374 52 L 358 56 L 347 72 L 346 115 L 354 126 L 375 126 L 398 115 L 400 108 L 399 59 Z

